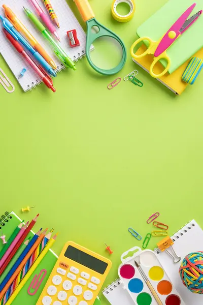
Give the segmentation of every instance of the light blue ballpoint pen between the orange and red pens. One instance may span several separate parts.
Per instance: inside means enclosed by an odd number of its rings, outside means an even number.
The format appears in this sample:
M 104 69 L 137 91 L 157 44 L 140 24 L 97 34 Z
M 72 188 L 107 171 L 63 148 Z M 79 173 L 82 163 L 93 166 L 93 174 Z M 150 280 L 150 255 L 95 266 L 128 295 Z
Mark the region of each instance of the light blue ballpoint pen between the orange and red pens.
M 44 57 L 36 51 L 25 39 L 24 37 L 15 29 L 13 24 L 7 19 L 0 15 L 0 20 L 3 21 L 3 27 L 11 34 L 15 40 L 19 41 L 30 53 L 33 57 L 35 57 L 36 60 L 41 64 L 41 66 L 52 76 L 56 77 L 57 74 L 54 71 L 53 68 L 46 62 Z

